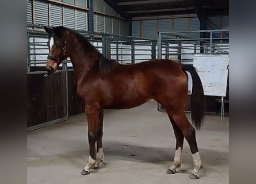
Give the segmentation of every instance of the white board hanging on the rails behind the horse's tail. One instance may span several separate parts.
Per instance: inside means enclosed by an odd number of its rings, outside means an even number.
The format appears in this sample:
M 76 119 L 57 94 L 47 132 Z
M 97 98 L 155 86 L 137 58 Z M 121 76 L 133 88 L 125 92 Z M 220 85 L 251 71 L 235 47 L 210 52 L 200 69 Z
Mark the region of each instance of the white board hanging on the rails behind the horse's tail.
M 204 95 L 226 97 L 228 55 L 194 55 L 193 66 L 200 76 Z

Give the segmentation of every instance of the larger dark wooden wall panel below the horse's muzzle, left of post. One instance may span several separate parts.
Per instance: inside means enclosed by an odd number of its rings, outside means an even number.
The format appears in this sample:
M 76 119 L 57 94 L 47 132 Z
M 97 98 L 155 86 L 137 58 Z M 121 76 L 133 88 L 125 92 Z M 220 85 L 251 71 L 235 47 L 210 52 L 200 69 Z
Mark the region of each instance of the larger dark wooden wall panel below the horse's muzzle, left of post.
M 65 117 L 66 74 L 27 75 L 27 127 Z

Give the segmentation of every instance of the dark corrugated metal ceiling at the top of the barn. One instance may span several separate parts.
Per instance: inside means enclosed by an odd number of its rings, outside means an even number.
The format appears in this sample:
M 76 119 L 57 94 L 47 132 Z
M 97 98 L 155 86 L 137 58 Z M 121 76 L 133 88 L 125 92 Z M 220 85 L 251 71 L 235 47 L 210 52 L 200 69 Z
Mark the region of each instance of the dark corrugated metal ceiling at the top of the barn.
M 130 18 L 198 14 L 228 14 L 228 0 L 105 0 Z M 111 6 L 111 5 L 110 5 Z

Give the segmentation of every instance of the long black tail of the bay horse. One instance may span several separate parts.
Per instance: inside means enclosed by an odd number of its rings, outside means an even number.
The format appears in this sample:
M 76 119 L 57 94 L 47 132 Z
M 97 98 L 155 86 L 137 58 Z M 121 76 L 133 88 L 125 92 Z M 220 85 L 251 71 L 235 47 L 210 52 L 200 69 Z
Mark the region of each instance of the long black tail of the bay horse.
M 192 65 L 184 64 L 182 70 L 188 71 L 192 76 L 192 94 L 191 94 L 191 118 L 196 129 L 200 129 L 202 119 L 204 117 L 204 89 L 202 88 L 201 80 L 196 72 L 196 68 Z

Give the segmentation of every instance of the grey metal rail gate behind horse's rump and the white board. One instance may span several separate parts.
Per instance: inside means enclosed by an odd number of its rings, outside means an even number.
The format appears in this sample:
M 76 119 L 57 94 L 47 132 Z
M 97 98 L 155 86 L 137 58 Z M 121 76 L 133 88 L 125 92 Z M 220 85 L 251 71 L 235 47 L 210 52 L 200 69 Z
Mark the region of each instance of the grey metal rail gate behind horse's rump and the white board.
M 193 64 L 196 53 L 228 55 L 229 47 L 229 30 L 226 29 L 159 32 L 158 34 L 158 59 L 172 59 L 183 64 Z M 192 79 L 189 74 L 188 89 L 191 89 L 191 85 Z M 208 113 L 218 113 L 219 103 L 216 103 L 215 99 L 216 97 L 205 96 L 205 108 Z M 190 91 L 188 91 L 187 102 L 190 102 Z M 158 110 L 165 109 L 158 104 Z M 189 103 L 186 103 L 185 110 L 190 111 Z

